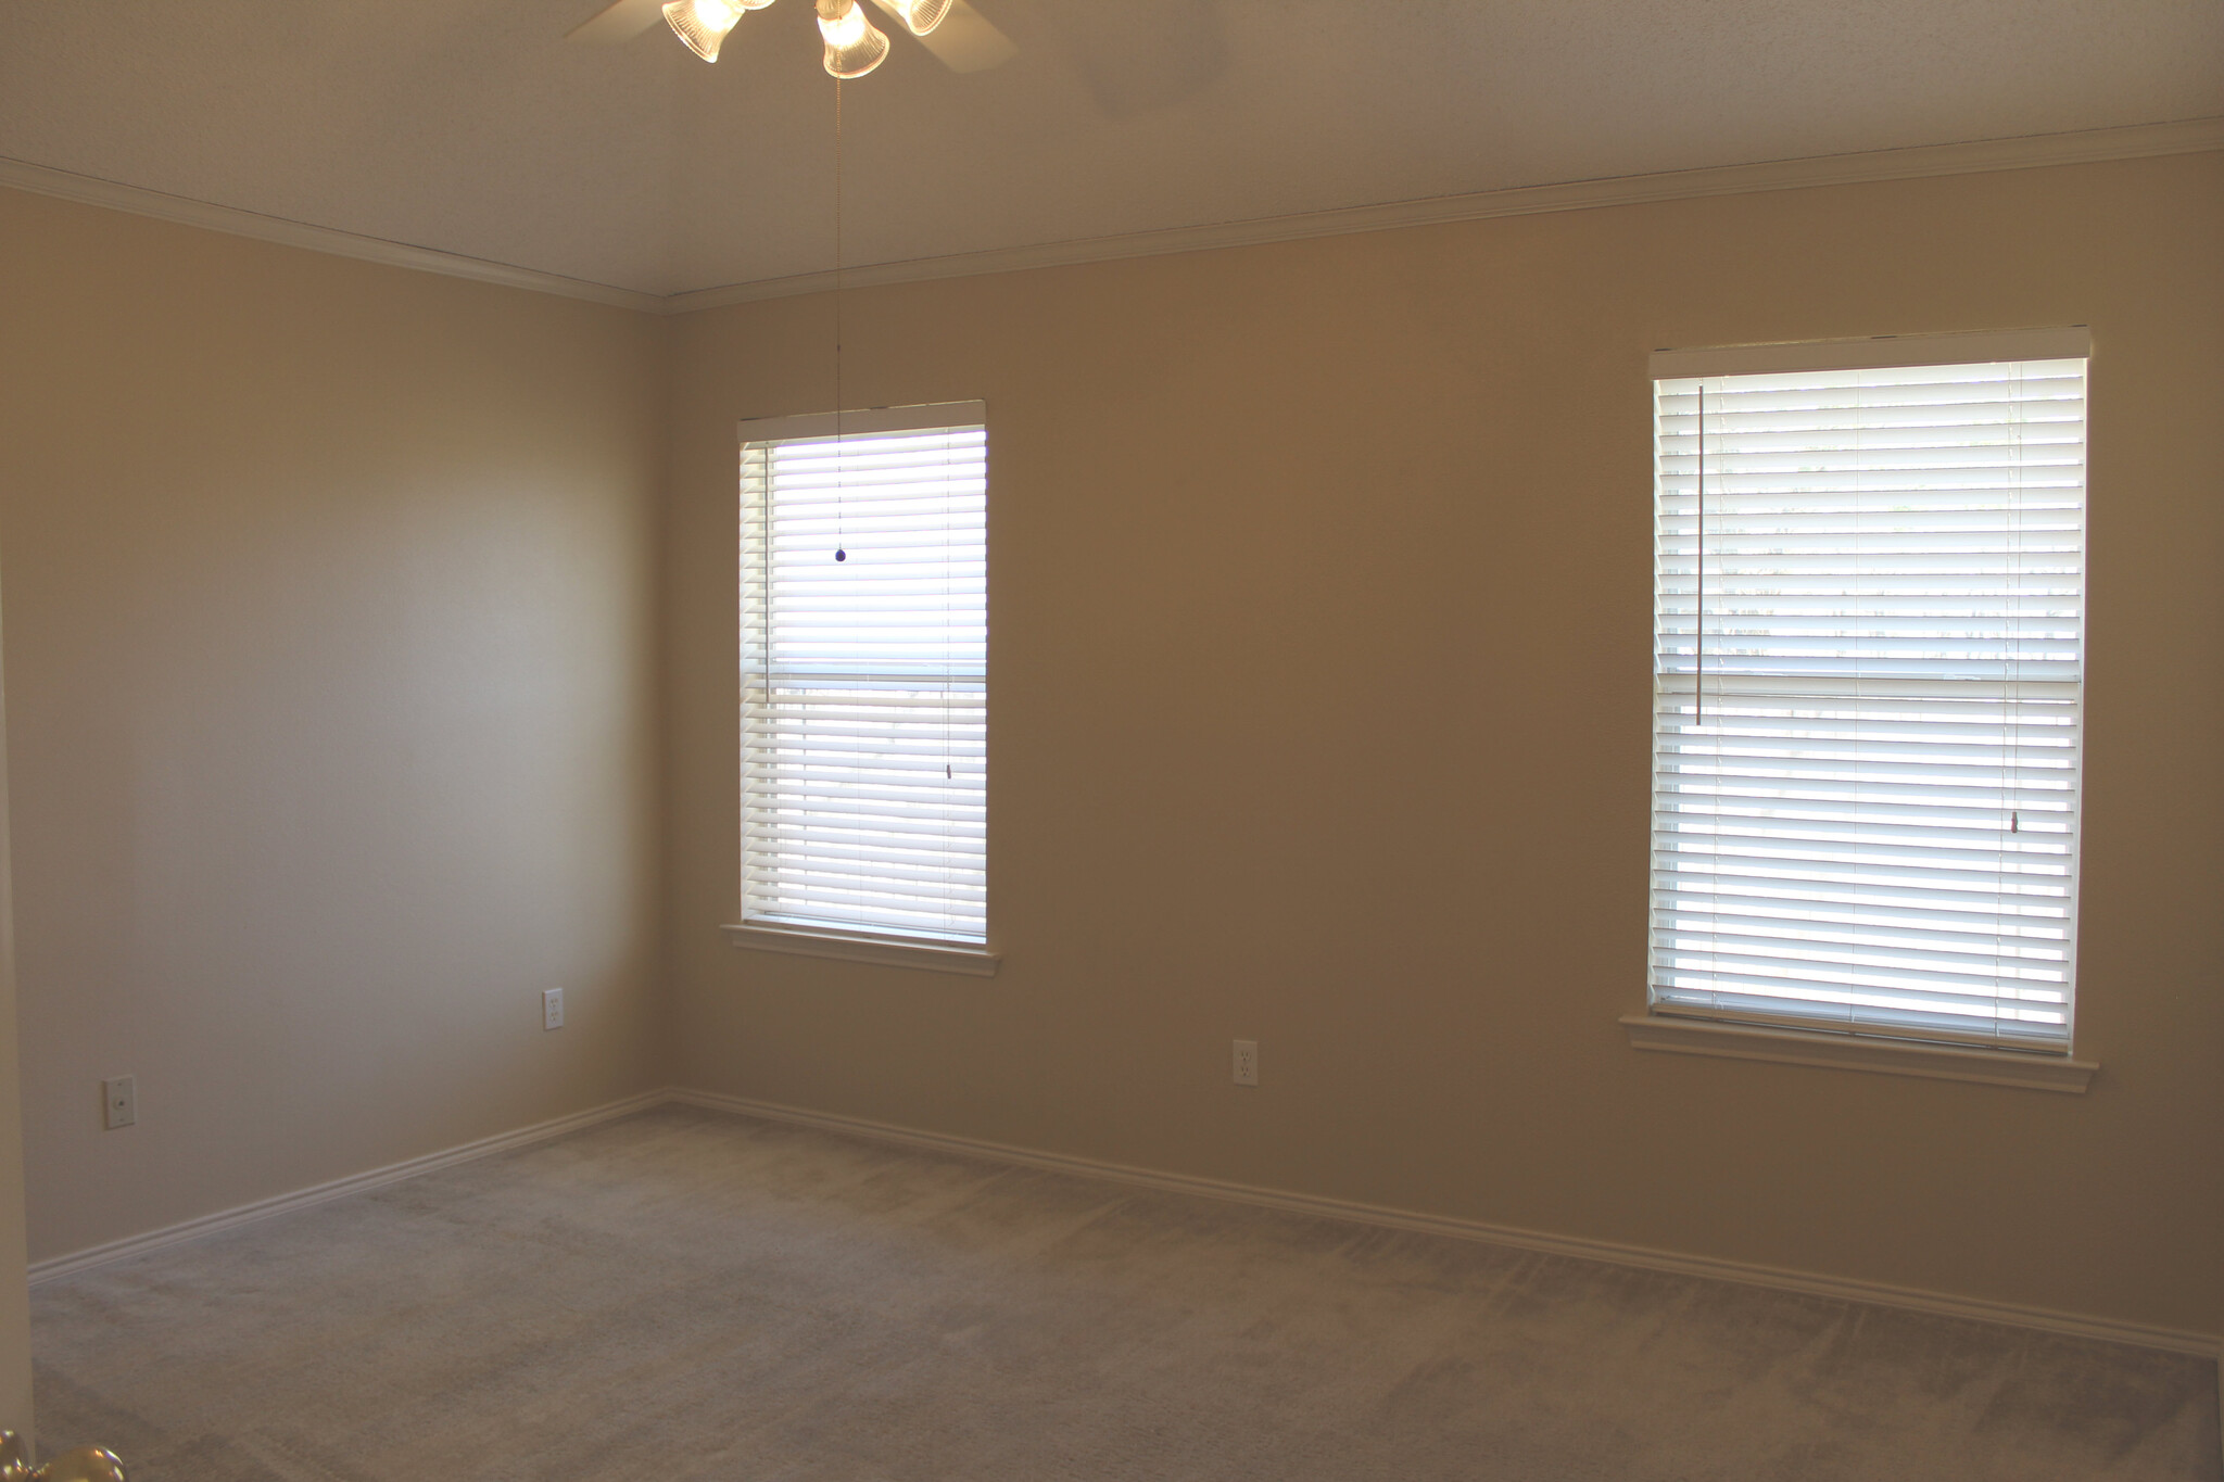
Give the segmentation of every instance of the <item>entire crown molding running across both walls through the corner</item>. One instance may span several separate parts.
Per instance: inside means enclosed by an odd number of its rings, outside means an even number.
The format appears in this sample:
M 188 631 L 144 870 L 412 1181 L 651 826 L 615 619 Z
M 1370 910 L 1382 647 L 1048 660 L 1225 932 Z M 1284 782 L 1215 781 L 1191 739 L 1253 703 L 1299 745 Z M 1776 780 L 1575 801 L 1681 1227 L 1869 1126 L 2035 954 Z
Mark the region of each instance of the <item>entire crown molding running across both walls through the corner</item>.
M 2173 153 L 2224 149 L 2224 118 L 2186 118 L 2166 124 L 2126 124 L 2119 129 L 2079 129 L 2075 133 L 2028 133 L 1964 144 L 1919 144 L 1913 149 L 1873 149 L 1864 153 L 1813 156 L 1804 160 L 1764 160 L 1757 164 L 1717 164 L 1652 176 L 1612 176 L 1604 180 L 1570 180 L 1566 184 L 1530 184 L 1472 196 L 1434 196 L 1428 200 L 1392 200 L 1374 207 L 1337 211 L 1301 211 L 1294 216 L 1261 216 L 1203 227 L 1170 227 L 1165 231 L 1130 231 L 1072 242 L 1039 242 L 1032 247 L 999 247 L 992 251 L 874 262 L 843 271 L 843 284 L 870 289 L 896 282 L 932 282 L 939 278 L 976 278 L 983 273 L 1016 273 L 1036 267 L 1072 267 L 1081 262 L 1114 262 L 1121 258 L 1159 258 L 1221 247 L 1259 247 L 1299 242 L 1305 238 L 1350 236 L 1357 231 L 1397 231 L 1401 227 L 1439 227 L 1479 222 L 1497 216 L 1539 216 L 1548 211 L 1592 211 L 1599 207 L 1635 207 L 1661 200 L 1699 200 L 1706 196 L 1748 196 L 1755 191 L 1797 191 L 1817 184 L 1859 184 L 1870 180 L 1922 180 L 1930 176 L 1975 176 L 2008 169 L 2044 169 L 2048 164 L 2091 164 L 2099 160 L 2144 160 Z M 463 253 L 389 242 L 385 238 L 314 227 L 309 222 L 218 207 L 189 196 L 169 196 L 118 180 L 80 176 L 67 169 L 31 164 L 0 156 L 0 187 L 56 196 L 89 207 L 151 216 L 185 227 L 205 227 L 231 236 L 305 247 L 309 251 L 407 267 L 420 273 L 445 273 L 494 282 L 507 289 L 556 293 L 592 304 L 638 309 L 643 313 L 694 313 L 725 309 L 767 298 L 796 298 L 834 289 L 834 273 L 798 273 L 761 278 L 687 293 L 643 293 L 540 269 L 489 262 Z

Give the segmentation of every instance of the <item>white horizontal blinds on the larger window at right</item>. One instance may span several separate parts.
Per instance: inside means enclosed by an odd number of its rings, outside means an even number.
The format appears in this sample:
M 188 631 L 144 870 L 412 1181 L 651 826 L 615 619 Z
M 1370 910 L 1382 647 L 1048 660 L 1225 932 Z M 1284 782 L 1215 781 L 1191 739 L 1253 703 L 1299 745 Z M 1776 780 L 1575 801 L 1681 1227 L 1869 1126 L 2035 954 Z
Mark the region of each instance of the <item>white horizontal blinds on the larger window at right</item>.
M 1655 1011 L 2068 1049 L 2084 371 L 1655 382 Z

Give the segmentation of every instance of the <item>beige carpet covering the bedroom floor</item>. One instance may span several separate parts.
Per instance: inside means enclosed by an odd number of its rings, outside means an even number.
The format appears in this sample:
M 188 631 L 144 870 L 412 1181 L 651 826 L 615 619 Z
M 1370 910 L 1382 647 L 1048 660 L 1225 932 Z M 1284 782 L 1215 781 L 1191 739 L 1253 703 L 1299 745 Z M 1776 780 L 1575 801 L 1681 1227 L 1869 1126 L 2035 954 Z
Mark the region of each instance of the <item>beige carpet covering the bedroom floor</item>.
M 649 1111 L 42 1286 L 133 1482 L 2215 1482 L 2204 1360 Z

